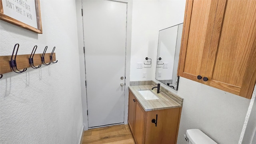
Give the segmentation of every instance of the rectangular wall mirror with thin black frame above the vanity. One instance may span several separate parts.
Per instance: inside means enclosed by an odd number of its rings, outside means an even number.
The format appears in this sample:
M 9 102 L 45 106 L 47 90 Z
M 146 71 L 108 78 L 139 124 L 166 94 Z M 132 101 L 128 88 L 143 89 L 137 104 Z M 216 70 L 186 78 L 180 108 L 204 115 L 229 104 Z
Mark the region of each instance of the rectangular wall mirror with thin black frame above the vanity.
M 159 30 L 156 80 L 178 90 L 177 76 L 183 23 Z

